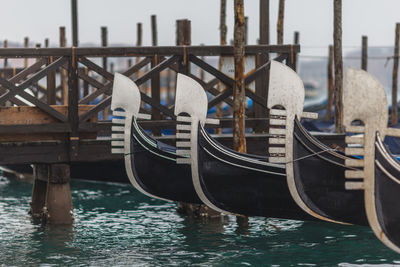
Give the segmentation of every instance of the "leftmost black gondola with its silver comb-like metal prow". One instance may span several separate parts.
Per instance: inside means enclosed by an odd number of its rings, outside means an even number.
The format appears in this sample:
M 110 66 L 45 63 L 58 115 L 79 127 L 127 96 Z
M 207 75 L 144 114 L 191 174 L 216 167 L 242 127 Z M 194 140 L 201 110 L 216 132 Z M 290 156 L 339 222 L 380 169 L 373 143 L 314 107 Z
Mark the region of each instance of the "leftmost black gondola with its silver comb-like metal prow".
M 149 118 L 139 113 L 140 91 L 128 77 L 116 73 L 111 101 L 112 153 L 124 154 L 132 185 L 143 194 L 167 201 L 200 204 L 190 179 L 190 167 L 177 165 L 185 156 L 176 148 L 150 137 L 137 123 Z

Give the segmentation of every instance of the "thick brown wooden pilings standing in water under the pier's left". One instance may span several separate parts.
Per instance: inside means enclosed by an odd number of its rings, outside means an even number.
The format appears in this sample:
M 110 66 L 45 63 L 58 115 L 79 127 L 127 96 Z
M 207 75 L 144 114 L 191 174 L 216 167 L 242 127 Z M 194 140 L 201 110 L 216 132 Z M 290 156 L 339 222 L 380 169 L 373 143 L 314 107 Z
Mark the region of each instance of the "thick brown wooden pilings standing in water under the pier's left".
M 35 164 L 31 215 L 48 224 L 72 224 L 73 206 L 68 164 Z

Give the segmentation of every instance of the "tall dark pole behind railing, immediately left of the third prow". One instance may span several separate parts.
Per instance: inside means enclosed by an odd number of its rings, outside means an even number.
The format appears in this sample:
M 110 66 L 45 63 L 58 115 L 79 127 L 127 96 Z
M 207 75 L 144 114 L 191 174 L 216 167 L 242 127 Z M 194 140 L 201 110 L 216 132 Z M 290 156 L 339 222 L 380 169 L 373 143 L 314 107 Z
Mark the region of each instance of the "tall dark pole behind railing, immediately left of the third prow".
M 259 44 L 267 45 L 269 44 L 269 0 L 260 0 L 260 26 L 259 26 Z M 257 55 L 257 67 L 260 67 L 268 62 L 269 54 L 262 53 Z M 265 72 L 265 75 L 261 75 L 256 79 L 256 95 L 268 99 L 268 75 L 269 72 Z M 254 105 L 254 115 L 256 118 L 267 118 L 268 117 L 268 110 L 265 109 L 263 106 L 253 103 Z M 269 124 L 264 123 L 260 124 L 254 128 L 255 132 L 263 132 L 268 129 Z

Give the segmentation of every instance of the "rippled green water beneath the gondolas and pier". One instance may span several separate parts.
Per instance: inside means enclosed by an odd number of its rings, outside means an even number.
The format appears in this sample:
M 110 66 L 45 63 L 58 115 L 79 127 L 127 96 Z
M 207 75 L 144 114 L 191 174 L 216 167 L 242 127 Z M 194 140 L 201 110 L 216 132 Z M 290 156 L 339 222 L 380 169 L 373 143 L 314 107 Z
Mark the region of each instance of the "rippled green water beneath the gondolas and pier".
M 400 255 L 367 227 L 176 213 L 130 185 L 72 181 L 75 223 L 28 215 L 32 185 L 0 177 L 0 266 L 392 266 Z

